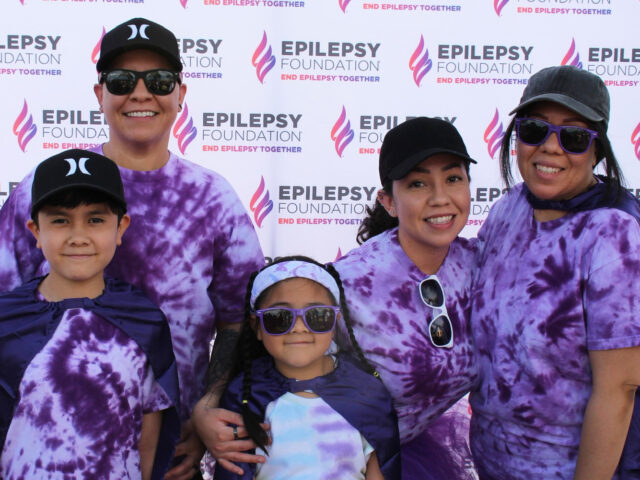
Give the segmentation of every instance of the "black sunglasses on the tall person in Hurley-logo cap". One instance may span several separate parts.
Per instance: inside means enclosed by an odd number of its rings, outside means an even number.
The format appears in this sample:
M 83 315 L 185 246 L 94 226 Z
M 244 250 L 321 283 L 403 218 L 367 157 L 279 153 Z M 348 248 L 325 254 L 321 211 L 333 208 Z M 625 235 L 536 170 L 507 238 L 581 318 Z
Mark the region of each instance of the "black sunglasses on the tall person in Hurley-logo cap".
M 99 81 L 106 84 L 107 90 L 112 95 L 128 95 L 135 90 L 140 78 L 144 81 L 149 93 L 153 95 L 169 95 L 176 88 L 176 82 L 180 83 L 179 73 L 162 68 L 145 72 L 120 68 L 102 72 Z

